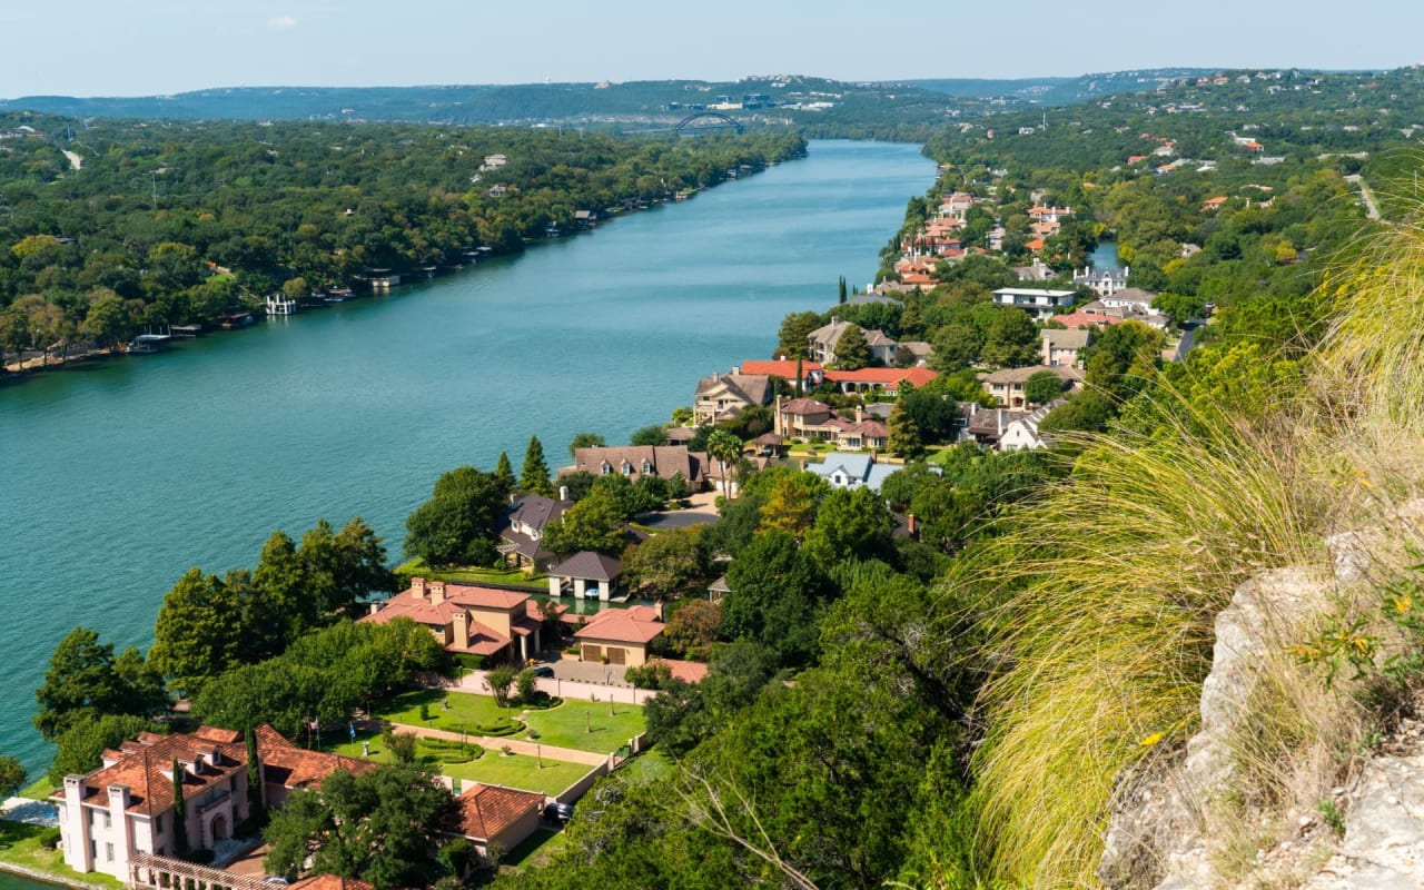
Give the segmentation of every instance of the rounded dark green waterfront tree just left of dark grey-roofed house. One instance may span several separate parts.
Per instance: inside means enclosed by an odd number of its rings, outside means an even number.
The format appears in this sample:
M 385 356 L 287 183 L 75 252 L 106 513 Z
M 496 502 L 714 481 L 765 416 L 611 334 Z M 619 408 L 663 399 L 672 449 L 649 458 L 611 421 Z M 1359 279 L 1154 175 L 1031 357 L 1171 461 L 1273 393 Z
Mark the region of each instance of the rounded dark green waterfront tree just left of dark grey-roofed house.
M 406 553 L 430 565 L 490 565 L 506 497 L 491 473 L 474 467 L 443 473 L 430 500 L 406 517 Z

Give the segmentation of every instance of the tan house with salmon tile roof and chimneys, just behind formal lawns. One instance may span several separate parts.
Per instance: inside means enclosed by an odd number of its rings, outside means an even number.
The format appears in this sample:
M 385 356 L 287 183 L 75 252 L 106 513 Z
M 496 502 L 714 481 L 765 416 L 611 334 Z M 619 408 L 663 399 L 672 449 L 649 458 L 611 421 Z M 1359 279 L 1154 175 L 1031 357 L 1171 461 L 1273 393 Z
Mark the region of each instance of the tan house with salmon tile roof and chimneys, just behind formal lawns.
M 370 609 L 360 621 L 386 624 L 410 618 L 429 628 L 446 649 L 461 655 L 513 658 L 523 664 L 544 648 L 540 605 L 517 591 L 412 578 L 407 590 L 384 602 L 372 602 Z

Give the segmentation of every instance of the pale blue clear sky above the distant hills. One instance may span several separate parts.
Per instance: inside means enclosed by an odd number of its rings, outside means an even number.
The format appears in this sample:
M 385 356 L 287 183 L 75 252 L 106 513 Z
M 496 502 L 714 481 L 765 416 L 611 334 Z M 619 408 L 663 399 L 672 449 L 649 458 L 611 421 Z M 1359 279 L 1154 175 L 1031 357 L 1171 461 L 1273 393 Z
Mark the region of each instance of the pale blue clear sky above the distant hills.
M 0 0 L 0 98 L 1394 68 L 1424 61 L 1420 26 L 1417 0 Z

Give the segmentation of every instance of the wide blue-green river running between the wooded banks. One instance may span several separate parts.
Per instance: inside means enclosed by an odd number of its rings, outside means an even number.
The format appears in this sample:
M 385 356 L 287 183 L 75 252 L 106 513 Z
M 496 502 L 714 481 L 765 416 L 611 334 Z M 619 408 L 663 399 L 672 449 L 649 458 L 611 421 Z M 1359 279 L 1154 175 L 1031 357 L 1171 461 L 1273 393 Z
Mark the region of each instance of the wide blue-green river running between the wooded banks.
M 252 565 L 273 528 L 360 514 L 394 558 L 441 471 L 665 422 L 839 276 L 864 286 L 933 177 L 917 147 L 815 142 L 386 298 L 0 387 L 0 752 L 47 762 L 33 691 L 75 625 L 147 646 L 187 568 Z

